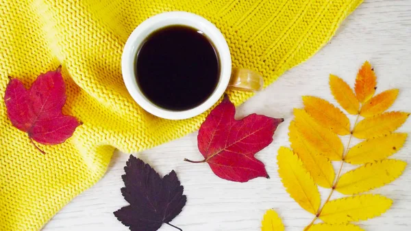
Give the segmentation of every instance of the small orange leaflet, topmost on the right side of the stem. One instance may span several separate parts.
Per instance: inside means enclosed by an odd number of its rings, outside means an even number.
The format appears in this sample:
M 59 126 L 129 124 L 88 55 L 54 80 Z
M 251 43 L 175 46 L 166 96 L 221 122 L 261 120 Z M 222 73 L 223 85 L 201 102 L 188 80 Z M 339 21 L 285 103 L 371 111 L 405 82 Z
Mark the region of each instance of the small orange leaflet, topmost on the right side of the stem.
M 398 89 L 392 89 L 377 94 L 371 98 L 371 100 L 362 105 L 360 115 L 364 117 L 371 117 L 386 111 L 386 109 L 391 107 L 397 99 L 398 92 Z

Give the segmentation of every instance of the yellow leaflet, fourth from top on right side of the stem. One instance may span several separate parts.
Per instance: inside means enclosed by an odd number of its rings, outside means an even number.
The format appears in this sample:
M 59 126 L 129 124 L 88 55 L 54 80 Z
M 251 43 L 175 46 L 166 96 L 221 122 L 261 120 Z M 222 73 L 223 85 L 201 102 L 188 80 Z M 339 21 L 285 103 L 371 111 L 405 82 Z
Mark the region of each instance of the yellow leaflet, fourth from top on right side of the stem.
M 394 159 L 368 163 L 341 176 L 336 191 L 351 195 L 382 187 L 398 178 L 406 165 L 406 162 Z

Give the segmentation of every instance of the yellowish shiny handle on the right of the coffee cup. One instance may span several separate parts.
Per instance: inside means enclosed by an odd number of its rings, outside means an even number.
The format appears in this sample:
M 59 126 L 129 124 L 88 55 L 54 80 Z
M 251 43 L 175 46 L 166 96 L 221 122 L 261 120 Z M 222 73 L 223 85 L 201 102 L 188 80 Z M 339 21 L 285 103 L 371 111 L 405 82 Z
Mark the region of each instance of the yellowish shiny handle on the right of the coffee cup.
M 228 87 L 232 90 L 244 92 L 258 92 L 264 86 L 262 75 L 245 68 L 233 68 Z

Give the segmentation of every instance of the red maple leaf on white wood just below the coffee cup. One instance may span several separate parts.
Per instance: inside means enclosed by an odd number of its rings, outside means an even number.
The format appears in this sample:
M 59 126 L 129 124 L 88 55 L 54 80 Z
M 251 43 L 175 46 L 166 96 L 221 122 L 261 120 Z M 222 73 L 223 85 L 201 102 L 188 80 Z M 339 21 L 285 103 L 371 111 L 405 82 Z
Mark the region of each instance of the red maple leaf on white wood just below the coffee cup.
M 253 113 L 242 120 L 235 120 L 236 108 L 227 96 L 215 107 L 201 124 L 197 136 L 198 146 L 214 174 L 226 180 L 247 182 L 256 177 L 266 177 L 264 163 L 254 157 L 273 141 L 278 124 L 275 119 Z

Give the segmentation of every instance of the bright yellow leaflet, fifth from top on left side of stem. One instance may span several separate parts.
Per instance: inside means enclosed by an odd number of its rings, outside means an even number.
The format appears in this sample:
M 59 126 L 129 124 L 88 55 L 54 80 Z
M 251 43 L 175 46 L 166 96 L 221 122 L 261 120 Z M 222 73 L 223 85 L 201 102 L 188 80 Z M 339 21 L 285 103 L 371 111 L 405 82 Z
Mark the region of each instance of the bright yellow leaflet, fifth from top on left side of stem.
M 312 214 L 319 210 L 321 199 L 314 180 L 290 148 L 280 147 L 277 155 L 278 174 L 291 198 Z

